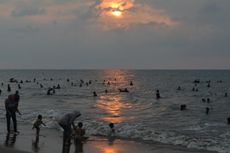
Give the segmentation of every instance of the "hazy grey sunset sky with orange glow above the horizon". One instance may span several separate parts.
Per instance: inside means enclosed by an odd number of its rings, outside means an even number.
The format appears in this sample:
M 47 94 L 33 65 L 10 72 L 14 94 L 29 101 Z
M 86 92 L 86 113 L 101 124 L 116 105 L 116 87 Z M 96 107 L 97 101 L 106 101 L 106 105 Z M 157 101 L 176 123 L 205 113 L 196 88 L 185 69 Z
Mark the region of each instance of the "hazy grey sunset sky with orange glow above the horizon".
M 0 69 L 230 69 L 230 0 L 0 0 Z

